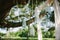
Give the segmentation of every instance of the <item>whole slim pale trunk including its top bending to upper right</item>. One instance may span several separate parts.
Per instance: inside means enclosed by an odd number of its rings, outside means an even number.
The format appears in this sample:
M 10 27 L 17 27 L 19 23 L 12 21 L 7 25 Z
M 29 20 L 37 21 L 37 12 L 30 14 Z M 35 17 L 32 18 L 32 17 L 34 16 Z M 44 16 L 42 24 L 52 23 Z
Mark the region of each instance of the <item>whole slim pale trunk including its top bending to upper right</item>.
M 39 5 L 35 8 L 35 17 L 36 17 L 36 23 L 37 23 L 37 32 L 38 32 L 38 40 L 42 40 L 42 32 L 41 32 L 41 20 L 39 18 L 39 14 L 41 10 L 45 9 L 46 7 L 49 7 L 53 3 L 53 0 L 47 0 L 42 5 Z

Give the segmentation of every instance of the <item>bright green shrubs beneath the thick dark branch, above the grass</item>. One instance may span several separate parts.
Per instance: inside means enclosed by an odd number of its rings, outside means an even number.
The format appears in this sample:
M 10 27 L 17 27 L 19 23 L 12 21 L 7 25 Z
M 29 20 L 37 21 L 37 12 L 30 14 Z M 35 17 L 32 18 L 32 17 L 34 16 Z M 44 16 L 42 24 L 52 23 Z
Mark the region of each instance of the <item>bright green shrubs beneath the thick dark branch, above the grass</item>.
M 17 32 L 10 32 L 9 37 L 27 37 L 27 34 L 28 34 L 28 30 L 23 29 L 23 30 L 19 30 Z

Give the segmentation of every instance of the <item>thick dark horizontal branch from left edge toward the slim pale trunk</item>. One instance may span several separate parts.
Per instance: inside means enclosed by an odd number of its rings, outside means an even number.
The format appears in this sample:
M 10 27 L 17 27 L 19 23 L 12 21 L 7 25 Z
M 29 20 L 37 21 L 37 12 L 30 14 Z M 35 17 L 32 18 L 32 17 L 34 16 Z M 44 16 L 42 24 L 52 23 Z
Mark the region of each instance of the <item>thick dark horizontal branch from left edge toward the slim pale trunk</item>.
M 30 23 L 34 22 L 35 17 L 29 19 L 26 21 L 26 24 L 29 25 Z M 7 22 L 5 21 L 4 23 L 0 23 L 0 27 L 20 27 L 22 26 L 22 22 L 14 23 L 14 22 Z

